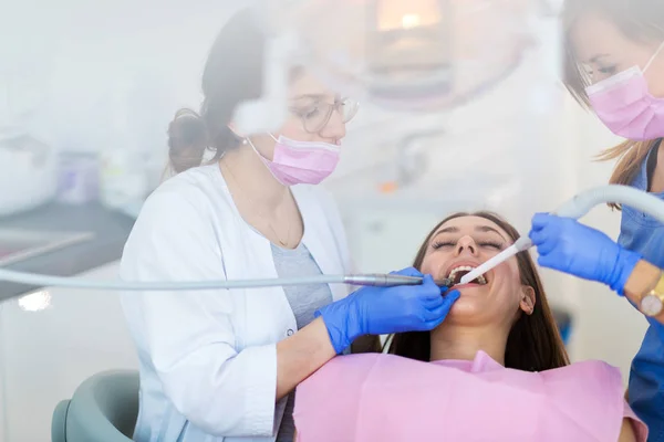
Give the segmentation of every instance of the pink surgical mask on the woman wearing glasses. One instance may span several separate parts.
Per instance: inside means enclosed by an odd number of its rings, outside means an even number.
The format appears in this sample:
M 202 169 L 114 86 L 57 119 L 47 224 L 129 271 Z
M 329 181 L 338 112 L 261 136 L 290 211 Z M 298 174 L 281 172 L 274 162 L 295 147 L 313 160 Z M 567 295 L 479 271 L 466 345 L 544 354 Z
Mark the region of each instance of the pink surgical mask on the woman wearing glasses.
M 323 141 L 297 141 L 279 136 L 274 138 L 274 155 L 270 161 L 251 145 L 266 167 L 283 186 L 318 185 L 328 178 L 339 164 L 341 147 Z

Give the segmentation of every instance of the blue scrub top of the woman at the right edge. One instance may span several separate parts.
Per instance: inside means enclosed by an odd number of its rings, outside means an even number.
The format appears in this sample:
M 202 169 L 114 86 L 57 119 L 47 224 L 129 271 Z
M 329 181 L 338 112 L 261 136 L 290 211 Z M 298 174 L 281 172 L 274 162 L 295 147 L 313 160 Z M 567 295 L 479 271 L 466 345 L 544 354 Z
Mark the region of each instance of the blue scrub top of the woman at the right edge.
M 651 150 L 654 152 L 658 144 Z M 647 190 L 649 159 L 643 161 L 633 187 Z M 664 200 L 664 192 L 653 193 Z M 654 218 L 623 207 L 621 234 L 622 246 L 636 251 L 652 264 L 664 269 L 664 223 Z M 649 318 L 650 327 L 630 372 L 630 406 L 649 427 L 650 442 L 664 442 L 664 325 Z

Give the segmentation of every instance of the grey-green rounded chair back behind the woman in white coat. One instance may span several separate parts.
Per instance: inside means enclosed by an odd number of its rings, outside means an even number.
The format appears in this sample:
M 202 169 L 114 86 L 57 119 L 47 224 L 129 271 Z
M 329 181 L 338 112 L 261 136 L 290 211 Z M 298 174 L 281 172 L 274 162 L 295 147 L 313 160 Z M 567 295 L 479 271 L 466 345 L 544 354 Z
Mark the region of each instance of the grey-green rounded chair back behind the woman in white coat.
M 55 407 L 51 441 L 131 442 L 137 415 L 138 372 L 100 372 Z

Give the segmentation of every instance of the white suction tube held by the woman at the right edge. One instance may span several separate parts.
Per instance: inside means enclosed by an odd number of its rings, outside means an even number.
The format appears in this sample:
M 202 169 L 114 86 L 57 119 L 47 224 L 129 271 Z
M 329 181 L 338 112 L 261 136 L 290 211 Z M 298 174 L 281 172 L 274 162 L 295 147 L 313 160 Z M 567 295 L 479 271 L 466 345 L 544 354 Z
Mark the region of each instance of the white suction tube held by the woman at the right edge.
M 579 219 L 585 215 L 595 206 L 606 202 L 630 206 L 664 222 L 664 202 L 662 202 L 662 200 L 633 187 L 616 185 L 602 186 L 581 192 L 559 207 L 552 214 Z M 523 252 L 531 246 L 532 242 L 528 236 L 519 238 L 511 246 L 498 253 L 471 272 L 465 274 L 461 277 L 460 283 L 469 283 L 479 275 L 487 273 L 517 253 Z

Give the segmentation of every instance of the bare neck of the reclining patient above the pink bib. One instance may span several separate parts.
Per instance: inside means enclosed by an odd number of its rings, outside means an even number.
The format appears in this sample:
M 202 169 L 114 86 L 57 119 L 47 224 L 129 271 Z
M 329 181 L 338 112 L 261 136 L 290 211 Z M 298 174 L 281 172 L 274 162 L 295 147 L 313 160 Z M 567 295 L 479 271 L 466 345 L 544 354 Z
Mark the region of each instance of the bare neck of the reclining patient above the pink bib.
M 505 365 L 505 347 L 509 330 L 496 327 L 465 327 L 443 324 L 432 332 L 430 360 L 474 360 L 483 350 Z

